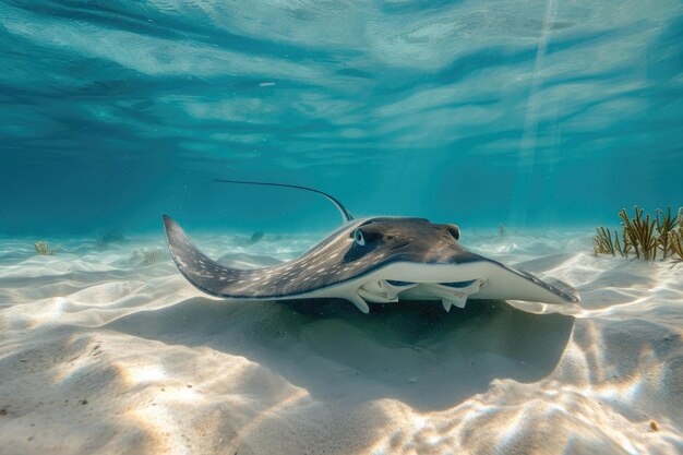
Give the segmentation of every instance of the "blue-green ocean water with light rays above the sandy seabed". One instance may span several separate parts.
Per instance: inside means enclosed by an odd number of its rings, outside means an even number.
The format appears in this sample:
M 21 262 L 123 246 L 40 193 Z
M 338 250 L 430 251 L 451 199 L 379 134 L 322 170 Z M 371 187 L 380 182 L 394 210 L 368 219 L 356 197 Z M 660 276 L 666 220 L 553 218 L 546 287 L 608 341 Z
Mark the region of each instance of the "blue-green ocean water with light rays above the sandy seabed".
M 0 235 L 683 202 L 683 3 L 0 1 Z

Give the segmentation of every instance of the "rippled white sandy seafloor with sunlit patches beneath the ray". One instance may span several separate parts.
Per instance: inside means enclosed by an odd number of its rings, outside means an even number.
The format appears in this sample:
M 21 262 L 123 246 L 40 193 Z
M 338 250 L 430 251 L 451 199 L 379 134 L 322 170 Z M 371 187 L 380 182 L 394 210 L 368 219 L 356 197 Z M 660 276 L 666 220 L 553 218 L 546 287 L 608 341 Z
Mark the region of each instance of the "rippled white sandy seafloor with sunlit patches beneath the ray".
M 0 240 L 0 453 L 682 453 L 683 264 L 464 234 L 580 304 L 228 303 L 133 253 L 161 234 Z M 313 240 L 199 236 L 242 266 Z

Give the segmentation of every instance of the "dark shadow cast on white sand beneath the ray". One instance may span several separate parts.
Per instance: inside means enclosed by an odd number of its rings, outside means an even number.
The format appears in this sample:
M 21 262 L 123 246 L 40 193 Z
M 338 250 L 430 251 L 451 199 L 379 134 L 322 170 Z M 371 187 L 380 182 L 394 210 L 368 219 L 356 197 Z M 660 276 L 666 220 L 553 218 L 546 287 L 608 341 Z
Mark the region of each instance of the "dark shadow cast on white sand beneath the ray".
M 574 318 L 531 314 L 504 301 L 373 304 L 345 300 L 228 303 L 192 298 L 105 327 L 171 345 L 248 358 L 317 399 L 394 398 L 450 408 L 493 380 L 529 383 L 553 371 Z M 217 372 L 218 373 L 218 372 Z

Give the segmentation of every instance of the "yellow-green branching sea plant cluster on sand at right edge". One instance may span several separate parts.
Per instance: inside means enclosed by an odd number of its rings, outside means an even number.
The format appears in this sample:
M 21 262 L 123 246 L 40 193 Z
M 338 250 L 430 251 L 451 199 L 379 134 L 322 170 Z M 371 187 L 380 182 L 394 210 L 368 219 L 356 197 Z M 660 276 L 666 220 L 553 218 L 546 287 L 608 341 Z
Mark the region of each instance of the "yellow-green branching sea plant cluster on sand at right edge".
M 612 254 L 616 252 L 622 258 L 628 258 L 628 253 L 633 250 L 636 258 L 652 261 L 657 259 L 657 251 L 662 251 L 662 259 L 678 255 L 683 260 L 683 207 L 679 209 L 678 216 L 671 215 L 671 208 L 667 207 L 667 212 L 662 209 L 656 211 L 652 218 L 649 214 L 644 216 L 644 209 L 633 206 L 634 217 L 628 218 L 626 209 L 623 208 L 619 216 L 622 219 L 622 241 L 619 240 L 619 234 L 614 230 L 614 241 L 612 234 L 604 227 L 596 228 L 598 235 L 594 238 L 594 251 L 596 254 Z M 678 226 L 678 229 L 676 229 Z M 622 246 L 623 243 L 623 246 Z

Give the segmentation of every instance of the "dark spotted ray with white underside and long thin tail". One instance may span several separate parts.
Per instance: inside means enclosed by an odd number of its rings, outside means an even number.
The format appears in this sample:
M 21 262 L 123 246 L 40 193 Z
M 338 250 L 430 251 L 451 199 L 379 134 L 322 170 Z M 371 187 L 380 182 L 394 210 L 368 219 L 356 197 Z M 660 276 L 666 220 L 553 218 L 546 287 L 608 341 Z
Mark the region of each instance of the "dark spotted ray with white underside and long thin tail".
M 441 300 L 446 311 L 468 299 L 576 303 L 571 286 L 464 249 L 460 229 L 424 218 L 356 219 L 332 195 L 284 183 L 217 180 L 312 191 L 327 197 L 343 225 L 301 256 L 257 270 L 227 267 L 202 253 L 182 228 L 164 215 L 171 256 L 184 277 L 211 296 L 232 301 L 343 298 L 368 313 L 371 303 Z

